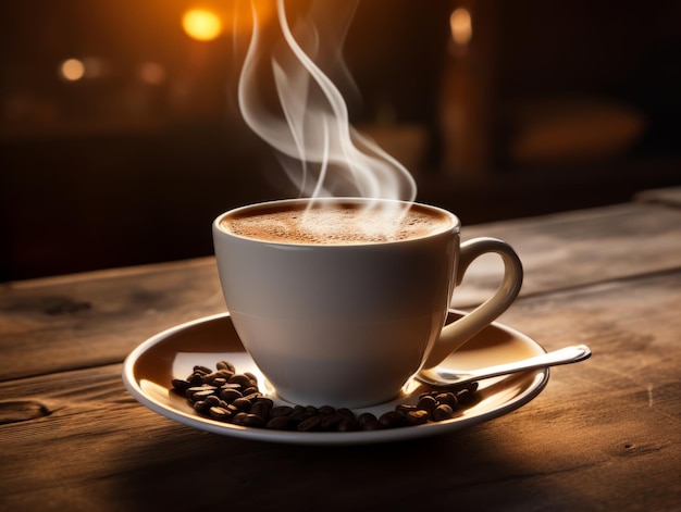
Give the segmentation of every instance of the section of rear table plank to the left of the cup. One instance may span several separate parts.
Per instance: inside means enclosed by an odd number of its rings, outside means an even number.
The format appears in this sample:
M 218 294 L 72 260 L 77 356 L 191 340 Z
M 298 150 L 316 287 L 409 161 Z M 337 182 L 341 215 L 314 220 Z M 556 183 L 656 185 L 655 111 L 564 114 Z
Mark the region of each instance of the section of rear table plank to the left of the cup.
M 12 283 L 0 380 L 123 361 L 151 335 L 225 310 L 212 259 Z

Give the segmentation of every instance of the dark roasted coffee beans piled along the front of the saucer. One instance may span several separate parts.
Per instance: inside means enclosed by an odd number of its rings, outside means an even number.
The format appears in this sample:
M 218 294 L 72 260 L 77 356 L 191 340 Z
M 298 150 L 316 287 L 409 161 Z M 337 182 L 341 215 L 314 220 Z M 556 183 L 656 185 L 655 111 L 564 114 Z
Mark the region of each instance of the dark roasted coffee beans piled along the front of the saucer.
M 191 375 L 173 379 L 172 386 L 202 416 L 246 427 L 298 432 L 380 430 L 442 422 L 454 417 L 458 409 L 475 403 L 478 389 L 478 383 L 472 383 L 446 391 L 428 391 L 416 404 L 400 403 L 376 417 L 331 405 L 275 405 L 260 392 L 255 375 L 237 373 L 227 361 L 220 361 L 215 370 L 196 365 Z

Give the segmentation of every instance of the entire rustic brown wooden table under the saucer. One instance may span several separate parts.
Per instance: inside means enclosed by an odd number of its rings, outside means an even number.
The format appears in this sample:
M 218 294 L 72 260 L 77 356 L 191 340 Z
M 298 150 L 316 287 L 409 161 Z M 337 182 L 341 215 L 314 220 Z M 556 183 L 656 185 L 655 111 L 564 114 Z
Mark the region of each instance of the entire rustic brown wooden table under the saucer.
M 224 311 L 212 259 L 4 284 L 0 510 L 680 510 L 678 197 L 466 227 L 524 262 L 500 322 L 593 357 L 510 414 L 406 442 L 235 439 L 135 401 L 126 354 Z M 490 292 L 498 263 L 471 271 L 457 307 Z

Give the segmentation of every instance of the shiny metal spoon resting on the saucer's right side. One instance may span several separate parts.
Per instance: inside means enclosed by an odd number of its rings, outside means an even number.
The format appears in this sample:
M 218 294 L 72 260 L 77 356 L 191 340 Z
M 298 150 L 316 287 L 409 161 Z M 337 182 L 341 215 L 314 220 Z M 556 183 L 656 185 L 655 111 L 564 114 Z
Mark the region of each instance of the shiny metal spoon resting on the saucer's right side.
M 591 349 L 585 345 L 575 345 L 564 349 L 554 350 L 553 352 L 543 353 L 534 358 L 523 359 L 507 364 L 498 364 L 480 370 L 457 371 L 443 366 L 434 366 L 428 370 L 421 370 L 416 378 L 424 384 L 437 387 L 458 386 L 483 378 L 496 377 L 498 375 L 508 375 L 524 370 L 544 369 L 547 366 L 557 366 L 559 364 L 569 364 L 583 361 L 591 355 Z

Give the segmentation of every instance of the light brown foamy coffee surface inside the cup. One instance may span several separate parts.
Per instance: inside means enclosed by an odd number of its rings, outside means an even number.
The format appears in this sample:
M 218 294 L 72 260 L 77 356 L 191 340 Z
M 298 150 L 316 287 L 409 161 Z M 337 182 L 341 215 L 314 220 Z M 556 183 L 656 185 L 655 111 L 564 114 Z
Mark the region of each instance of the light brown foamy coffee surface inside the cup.
M 226 230 L 278 243 L 357 245 L 421 238 L 451 227 L 445 214 L 412 207 L 400 216 L 349 205 L 262 209 L 225 217 Z

